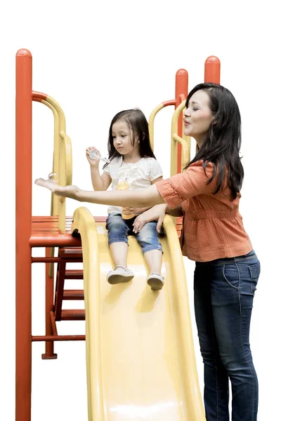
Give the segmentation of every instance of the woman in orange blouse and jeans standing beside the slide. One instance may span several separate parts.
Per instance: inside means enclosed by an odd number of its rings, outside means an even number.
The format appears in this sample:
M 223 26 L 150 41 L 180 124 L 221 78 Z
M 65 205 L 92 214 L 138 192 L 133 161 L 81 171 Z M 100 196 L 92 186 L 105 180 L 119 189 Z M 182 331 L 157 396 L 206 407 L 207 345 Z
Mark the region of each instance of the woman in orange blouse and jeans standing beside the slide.
M 183 255 L 196 262 L 195 316 L 207 421 L 229 420 L 229 379 L 233 421 L 255 421 L 258 380 L 249 326 L 260 263 L 238 210 L 244 176 L 240 112 L 228 89 L 200 83 L 190 91 L 183 114 L 184 133 L 195 138 L 198 148 L 181 174 L 138 192 L 84 192 L 42 179 L 36 184 L 78 201 L 154 206 L 136 218 L 135 232 L 149 220 L 158 220 L 159 230 L 164 213 L 183 215 Z

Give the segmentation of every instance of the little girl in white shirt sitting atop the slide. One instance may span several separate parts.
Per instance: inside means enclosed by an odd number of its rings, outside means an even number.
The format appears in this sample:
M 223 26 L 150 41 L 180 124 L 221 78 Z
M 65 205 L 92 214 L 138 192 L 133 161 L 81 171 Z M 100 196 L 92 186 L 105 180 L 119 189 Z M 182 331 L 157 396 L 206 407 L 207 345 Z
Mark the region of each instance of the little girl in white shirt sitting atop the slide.
M 91 166 L 91 180 L 95 191 L 107 190 L 112 184 L 112 190 L 131 189 L 141 190 L 155 182 L 162 180 L 162 169 L 155 159 L 150 147 L 148 121 L 140 109 L 127 109 L 113 117 L 110 124 L 108 152 L 110 163 L 103 166 L 100 175 L 98 157 L 91 158 L 95 147 L 86 149 L 86 158 Z M 90 156 L 91 154 L 91 156 Z M 133 234 L 133 222 L 149 207 L 136 208 L 126 206 L 110 206 L 106 228 L 108 231 L 108 244 L 115 269 L 107 274 L 107 281 L 111 284 L 130 281 L 133 272 L 126 267 L 128 253 L 128 234 Z M 150 274 L 148 285 L 152 290 L 160 290 L 164 285 L 164 278 L 160 274 L 162 265 L 162 246 L 159 243 L 156 230 L 157 222 L 145 224 L 136 239 L 141 245 L 145 261 Z

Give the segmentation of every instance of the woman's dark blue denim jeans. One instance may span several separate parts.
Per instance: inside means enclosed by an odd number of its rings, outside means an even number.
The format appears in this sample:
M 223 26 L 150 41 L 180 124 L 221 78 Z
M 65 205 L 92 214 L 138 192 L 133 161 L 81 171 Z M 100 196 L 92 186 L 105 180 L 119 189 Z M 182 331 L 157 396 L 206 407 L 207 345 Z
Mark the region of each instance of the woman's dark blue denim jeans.
M 251 358 L 249 327 L 260 274 L 254 251 L 237 258 L 196 262 L 195 318 L 204 362 L 207 421 L 256 421 L 258 379 Z

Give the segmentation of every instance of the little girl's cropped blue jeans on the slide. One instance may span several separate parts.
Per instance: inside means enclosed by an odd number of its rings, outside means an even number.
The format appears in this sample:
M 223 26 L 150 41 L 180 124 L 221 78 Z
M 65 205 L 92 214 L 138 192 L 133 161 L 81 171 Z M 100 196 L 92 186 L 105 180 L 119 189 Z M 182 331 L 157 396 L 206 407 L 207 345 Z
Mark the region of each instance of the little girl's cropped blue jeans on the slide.
M 106 229 L 108 231 L 108 245 L 112 243 L 127 243 L 129 234 L 136 235 L 136 239 L 140 244 L 143 253 L 150 250 L 161 250 L 156 230 L 156 221 L 147 222 L 138 234 L 133 232 L 133 221 L 136 217 L 124 220 L 119 212 L 112 212 L 107 216 Z

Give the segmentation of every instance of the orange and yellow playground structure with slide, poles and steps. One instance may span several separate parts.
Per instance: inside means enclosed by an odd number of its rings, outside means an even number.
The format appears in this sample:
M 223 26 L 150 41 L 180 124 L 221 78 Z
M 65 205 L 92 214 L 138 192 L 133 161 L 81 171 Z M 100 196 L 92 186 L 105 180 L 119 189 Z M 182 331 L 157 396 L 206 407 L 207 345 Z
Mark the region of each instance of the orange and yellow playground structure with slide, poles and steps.
M 220 62 L 205 62 L 205 81 L 219 83 Z M 171 124 L 171 175 L 190 159 L 181 114 L 188 94 L 188 72 L 176 73 L 176 98 L 162 102 L 150 115 L 153 147 L 154 119 L 160 109 L 175 107 Z M 51 216 L 32 216 L 32 100 L 51 108 L 55 138 L 53 173 L 60 185 L 72 181 L 71 141 L 60 105 L 32 91 L 32 55 L 16 55 L 16 390 L 15 421 L 31 421 L 32 342 L 44 341 L 42 359 L 55 359 L 56 340 L 85 340 L 89 421 L 203 421 L 204 409 L 192 342 L 188 290 L 178 241 L 181 220 L 166 215 L 161 240 L 166 282 L 161 293 L 146 285 L 143 253 L 129 238 L 128 264 L 133 283 L 110 286 L 111 268 L 105 218 L 77 208 L 65 217 L 65 198 L 52 196 Z M 44 247 L 45 256 L 32 257 Z M 58 256 L 54 248 L 58 247 Z M 31 266 L 46 265 L 46 334 L 32 335 Z M 55 274 L 53 263 L 57 263 Z M 83 270 L 67 269 L 83 262 Z M 84 279 L 84 290 L 65 290 L 65 279 Z M 84 300 L 85 311 L 62 309 L 63 300 Z M 86 335 L 58 335 L 57 322 L 86 319 Z M 126 354 L 124 353 L 126 350 Z M 126 355 L 126 356 L 125 356 Z

